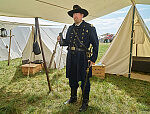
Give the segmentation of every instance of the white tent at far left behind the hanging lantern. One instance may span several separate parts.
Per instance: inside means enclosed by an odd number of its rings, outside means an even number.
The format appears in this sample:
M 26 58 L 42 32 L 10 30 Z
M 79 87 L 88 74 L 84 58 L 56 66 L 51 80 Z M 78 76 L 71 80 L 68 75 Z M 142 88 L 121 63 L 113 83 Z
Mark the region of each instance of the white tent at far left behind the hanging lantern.
M 12 29 L 12 40 L 10 48 L 10 58 L 22 57 L 22 51 L 30 36 L 30 27 L 16 27 Z M 9 31 L 7 31 L 9 36 Z M 0 61 L 8 60 L 10 37 L 0 37 Z

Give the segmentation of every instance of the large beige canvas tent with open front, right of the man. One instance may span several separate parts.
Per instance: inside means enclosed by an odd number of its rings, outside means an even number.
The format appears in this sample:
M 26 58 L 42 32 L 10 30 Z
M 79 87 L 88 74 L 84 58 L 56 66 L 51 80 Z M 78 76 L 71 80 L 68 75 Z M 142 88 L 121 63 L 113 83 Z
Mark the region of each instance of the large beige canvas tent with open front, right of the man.
M 129 10 L 109 49 L 100 60 L 106 65 L 106 73 L 129 73 L 132 17 L 133 7 Z M 150 57 L 150 32 L 136 8 L 132 56 Z

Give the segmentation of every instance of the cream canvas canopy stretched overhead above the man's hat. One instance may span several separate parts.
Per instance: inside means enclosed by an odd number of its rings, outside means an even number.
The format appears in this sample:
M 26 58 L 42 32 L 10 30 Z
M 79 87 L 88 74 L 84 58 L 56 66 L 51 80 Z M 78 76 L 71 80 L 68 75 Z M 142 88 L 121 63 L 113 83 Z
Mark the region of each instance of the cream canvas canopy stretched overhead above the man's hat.
M 72 23 L 67 12 L 75 4 L 89 11 L 86 21 L 136 4 L 150 4 L 150 0 L 1 0 L 0 15 L 12 17 L 39 17 L 42 19 Z

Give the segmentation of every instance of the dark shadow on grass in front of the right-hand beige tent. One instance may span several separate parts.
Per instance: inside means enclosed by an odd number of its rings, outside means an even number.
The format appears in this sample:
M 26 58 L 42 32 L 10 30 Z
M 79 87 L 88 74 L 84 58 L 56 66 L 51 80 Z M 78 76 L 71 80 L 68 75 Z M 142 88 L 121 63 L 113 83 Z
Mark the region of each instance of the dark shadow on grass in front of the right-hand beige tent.
M 109 74 L 106 75 L 105 81 L 125 90 L 129 96 L 150 107 L 150 82 Z

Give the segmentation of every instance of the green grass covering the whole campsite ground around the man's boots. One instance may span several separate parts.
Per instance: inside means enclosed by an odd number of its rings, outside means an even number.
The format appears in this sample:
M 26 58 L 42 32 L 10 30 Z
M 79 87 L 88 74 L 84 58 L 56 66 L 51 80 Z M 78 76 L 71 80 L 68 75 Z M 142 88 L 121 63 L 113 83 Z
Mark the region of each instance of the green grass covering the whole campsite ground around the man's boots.
M 100 45 L 100 59 L 109 44 Z M 63 103 L 70 97 L 65 69 L 50 70 L 52 91 L 44 71 L 32 76 L 21 73 L 21 59 L 0 61 L 0 114 L 78 114 L 78 102 Z M 150 82 L 106 74 L 105 79 L 91 78 L 89 108 L 81 114 L 149 114 Z

